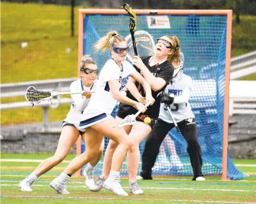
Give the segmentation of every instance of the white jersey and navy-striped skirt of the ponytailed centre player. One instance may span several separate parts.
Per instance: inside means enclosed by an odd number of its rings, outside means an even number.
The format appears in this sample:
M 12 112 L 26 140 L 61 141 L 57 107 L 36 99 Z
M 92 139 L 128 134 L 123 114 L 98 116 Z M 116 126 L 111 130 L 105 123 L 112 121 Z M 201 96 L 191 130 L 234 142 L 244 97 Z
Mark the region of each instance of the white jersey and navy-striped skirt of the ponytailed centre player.
M 126 86 L 129 76 L 136 72 L 128 61 L 123 61 L 121 65 L 120 69 L 114 59 L 109 59 L 101 69 L 99 79 L 95 83 L 95 93 L 92 94 L 90 102 L 84 110 L 79 130 L 84 131 L 86 127 L 112 117 L 110 114 L 115 108 L 116 100 L 113 99 L 110 91 L 109 81 L 118 80 L 119 88 L 122 90 Z

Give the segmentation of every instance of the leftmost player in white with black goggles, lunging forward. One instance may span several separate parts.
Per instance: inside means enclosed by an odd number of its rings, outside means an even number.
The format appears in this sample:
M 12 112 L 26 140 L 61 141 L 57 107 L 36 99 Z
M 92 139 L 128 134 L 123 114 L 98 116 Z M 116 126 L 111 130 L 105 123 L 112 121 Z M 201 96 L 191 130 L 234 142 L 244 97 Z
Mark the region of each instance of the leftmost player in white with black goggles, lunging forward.
M 98 68 L 96 62 L 90 58 L 89 55 L 83 56 L 81 59 L 81 79 L 78 79 L 70 85 L 71 92 L 83 91 L 82 94 L 72 94 L 73 104 L 70 107 L 70 111 L 67 114 L 66 119 L 62 123 L 61 136 L 59 137 L 58 146 L 54 156 L 45 159 L 27 178 L 19 183 L 19 188 L 21 191 L 32 191 L 32 183 L 38 180 L 39 176 L 46 173 L 54 166 L 58 165 L 65 159 L 67 154 L 69 154 L 70 149 L 76 142 L 79 136 L 79 123 L 82 116 L 82 112 L 87 107 L 88 102 L 91 97 L 91 90 L 94 89 L 94 84 L 96 76 L 98 74 Z M 103 154 L 104 143 L 102 143 L 101 148 L 98 151 L 98 157 L 95 157 L 90 163 L 93 165 L 98 162 Z M 92 182 L 92 180 L 89 180 Z M 87 182 L 88 183 L 88 182 Z M 66 192 L 66 189 L 63 189 Z

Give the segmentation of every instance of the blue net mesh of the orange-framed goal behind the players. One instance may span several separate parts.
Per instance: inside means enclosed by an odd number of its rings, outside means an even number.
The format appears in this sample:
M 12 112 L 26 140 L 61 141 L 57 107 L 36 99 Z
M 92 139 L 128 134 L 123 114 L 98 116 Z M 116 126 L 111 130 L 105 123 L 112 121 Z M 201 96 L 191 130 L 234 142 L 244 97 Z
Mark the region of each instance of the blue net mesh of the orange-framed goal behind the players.
M 153 16 L 150 16 L 151 19 Z M 137 15 L 136 30 L 150 33 L 154 41 L 164 35 L 177 36 L 181 51 L 184 53 L 184 73 L 193 79 L 190 97 L 192 111 L 198 128 L 198 139 L 203 156 L 203 174 L 221 174 L 223 145 L 223 109 L 225 88 L 226 27 L 225 15 L 167 15 L 170 28 L 149 28 L 146 15 Z M 84 18 L 83 54 L 91 54 L 98 67 L 111 58 L 108 51 L 104 54 L 92 52 L 92 45 L 108 31 L 116 30 L 124 37 L 129 33 L 127 15 L 86 15 Z M 142 49 L 139 47 L 139 49 Z M 140 50 L 138 50 L 140 53 Z M 113 116 L 116 114 L 113 111 Z M 183 136 L 173 128 L 166 137 L 157 158 L 160 167 L 153 169 L 153 175 L 192 176 L 192 167 L 187 154 L 187 143 Z M 108 139 L 106 139 L 105 147 Z M 140 144 L 142 153 L 144 141 Z M 85 150 L 84 143 L 82 151 Z M 106 150 L 106 148 L 105 148 Z M 104 159 L 104 157 L 103 157 Z M 96 174 L 101 174 L 103 159 L 96 166 Z M 141 169 L 141 164 L 139 170 Z M 82 171 L 83 174 L 83 171 Z M 121 174 L 127 175 L 124 162 Z M 246 175 L 238 171 L 228 157 L 227 176 L 233 180 Z

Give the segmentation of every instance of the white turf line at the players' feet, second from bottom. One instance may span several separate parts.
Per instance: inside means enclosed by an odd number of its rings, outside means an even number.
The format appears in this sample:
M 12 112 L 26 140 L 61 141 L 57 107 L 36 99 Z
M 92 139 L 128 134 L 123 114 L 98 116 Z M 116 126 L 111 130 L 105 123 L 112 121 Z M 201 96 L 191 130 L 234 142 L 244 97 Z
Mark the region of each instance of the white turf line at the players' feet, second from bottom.
M 50 182 L 49 182 L 50 183 Z M 18 183 L 17 183 L 18 184 Z M 0 186 L 18 186 L 17 184 L 0 184 Z M 33 185 L 38 187 L 49 187 L 49 185 Z M 86 188 L 81 185 L 68 185 L 68 188 Z M 123 187 L 129 188 L 129 187 Z M 236 189 L 215 189 L 215 188 L 161 188 L 161 187 L 143 187 L 143 189 L 165 189 L 165 190 L 184 190 L 184 191 L 224 191 L 224 192 L 256 192 L 252 190 L 236 190 Z

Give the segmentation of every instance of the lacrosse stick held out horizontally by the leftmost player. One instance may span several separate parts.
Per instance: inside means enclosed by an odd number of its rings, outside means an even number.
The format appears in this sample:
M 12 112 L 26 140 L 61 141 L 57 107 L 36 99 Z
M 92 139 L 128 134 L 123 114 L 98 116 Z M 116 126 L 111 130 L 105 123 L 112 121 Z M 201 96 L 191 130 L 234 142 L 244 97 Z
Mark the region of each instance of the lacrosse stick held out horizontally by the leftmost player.
M 94 93 L 93 91 L 91 91 Z M 50 100 L 55 96 L 63 95 L 63 94 L 82 94 L 83 92 L 55 92 L 55 91 L 39 91 L 35 87 L 28 87 L 25 91 L 25 98 L 27 101 L 29 101 L 31 104 L 39 104 L 44 100 Z

